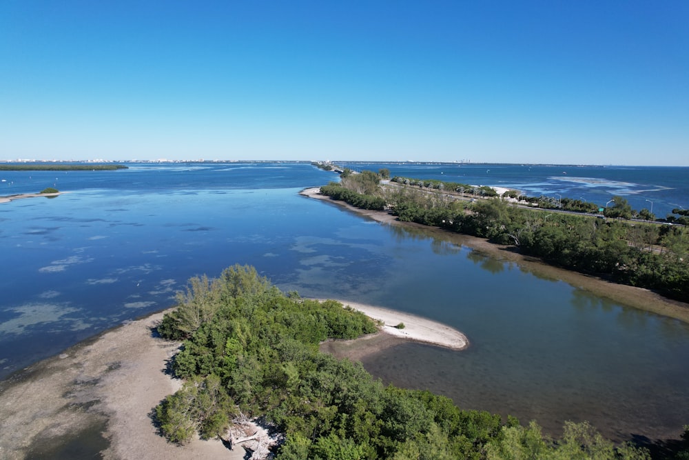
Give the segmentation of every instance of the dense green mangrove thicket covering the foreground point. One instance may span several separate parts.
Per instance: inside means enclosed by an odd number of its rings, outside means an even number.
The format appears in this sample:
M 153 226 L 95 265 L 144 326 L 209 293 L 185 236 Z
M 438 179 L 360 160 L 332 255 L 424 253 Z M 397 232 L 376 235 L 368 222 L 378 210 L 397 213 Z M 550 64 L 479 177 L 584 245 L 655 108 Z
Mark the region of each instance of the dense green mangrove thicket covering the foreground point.
M 185 383 L 156 408 L 161 432 L 185 443 L 222 437 L 237 414 L 281 433 L 277 459 L 647 459 L 588 423 L 561 439 L 535 422 L 462 410 L 428 391 L 384 386 L 360 363 L 318 350 L 325 339 L 376 331 L 336 301 L 283 294 L 256 270 L 233 266 L 194 278 L 158 332 L 183 340 L 174 373 Z

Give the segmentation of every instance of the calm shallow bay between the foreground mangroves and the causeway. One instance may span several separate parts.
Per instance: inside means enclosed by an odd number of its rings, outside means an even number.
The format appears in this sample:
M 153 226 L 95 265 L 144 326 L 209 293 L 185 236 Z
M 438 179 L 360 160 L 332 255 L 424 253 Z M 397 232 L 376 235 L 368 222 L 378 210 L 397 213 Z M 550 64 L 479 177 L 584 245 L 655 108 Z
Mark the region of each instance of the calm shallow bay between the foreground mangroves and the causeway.
M 387 167 L 431 177 L 424 166 Z M 549 430 L 587 419 L 621 439 L 676 437 L 689 423 L 686 324 L 486 258 L 461 239 L 298 195 L 331 172 L 136 164 L 2 176 L 12 192 L 56 183 L 68 193 L 0 203 L 0 377 L 170 306 L 189 277 L 247 263 L 284 291 L 413 312 L 469 337 L 464 352 L 408 343 L 367 359 L 386 381 Z

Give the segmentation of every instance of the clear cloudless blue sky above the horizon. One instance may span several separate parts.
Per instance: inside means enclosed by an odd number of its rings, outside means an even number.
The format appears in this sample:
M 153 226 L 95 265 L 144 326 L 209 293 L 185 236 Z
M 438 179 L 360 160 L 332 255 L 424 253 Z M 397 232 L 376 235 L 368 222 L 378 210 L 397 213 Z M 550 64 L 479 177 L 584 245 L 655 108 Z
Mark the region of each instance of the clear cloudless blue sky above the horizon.
M 689 1 L 0 1 L 0 159 L 689 166 Z

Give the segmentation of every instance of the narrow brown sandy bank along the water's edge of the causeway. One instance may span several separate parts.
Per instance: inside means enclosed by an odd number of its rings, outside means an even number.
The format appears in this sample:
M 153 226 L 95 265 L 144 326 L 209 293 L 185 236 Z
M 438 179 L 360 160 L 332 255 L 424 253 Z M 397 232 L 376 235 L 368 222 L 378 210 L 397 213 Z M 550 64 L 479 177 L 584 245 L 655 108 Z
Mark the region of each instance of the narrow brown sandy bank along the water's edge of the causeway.
M 438 227 L 424 226 L 420 223 L 402 222 L 387 211 L 362 210 L 344 201 L 333 200 L 326 195 L 320 194 L 320 187 L 305 188 L 300 191 L 299 194 L 303 197 L 332 203 L 334 206 L 340 206 L 380 223 L 422 230 L 424 233 L 428 234 L 429 237 L 438 237 L 439 239 L 466 246 L 467 248 L 489 255 L 500 261 L 515 262 L 528 271 L 537 273 L 539 276 L 562 280 L 570 286 L 573 286 L 573 288 L 582 289 L 591 294 L 595 294 L 597 297 L 602 297 L 615 303 L 621 303 L 624 306 L 636 308 L 637 310 L 644 310 L 646 312 L 660 314 L 664 317 L 677 319 L 684 323 L 689 323 L 689 303 L 667 299 L 646 288 L 612 283 L 593 275 L 551 266 L 536 257 L 525 256 L 516 252 L 515 248 L 512 246 L 490 243 L 488 240 L 479 237 L 453 233 Z

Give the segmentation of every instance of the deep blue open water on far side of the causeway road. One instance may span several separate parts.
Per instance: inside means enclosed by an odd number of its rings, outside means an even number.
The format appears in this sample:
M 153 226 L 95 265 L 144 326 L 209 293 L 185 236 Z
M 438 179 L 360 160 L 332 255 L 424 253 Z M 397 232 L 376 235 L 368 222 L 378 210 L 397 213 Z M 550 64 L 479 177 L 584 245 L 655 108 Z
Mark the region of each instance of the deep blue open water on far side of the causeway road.
M 635 210 L 646 208 L 658 218 L 672 209 L 689 208 L 689 168 L 669 166 L 562 166 L 496 165 L 481 163 L 347 163 L 353 170 L 388 168 L 393 176 L 438 179 L 520 190 L 541 195 L 583 199 L 604 207 L 614 195 L 624 197 Z M 647 201 L 648 200 L 648 201 Z M 652 202 L 652 203 L 651 203 Z

